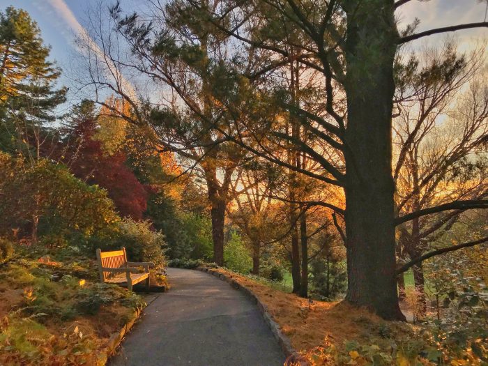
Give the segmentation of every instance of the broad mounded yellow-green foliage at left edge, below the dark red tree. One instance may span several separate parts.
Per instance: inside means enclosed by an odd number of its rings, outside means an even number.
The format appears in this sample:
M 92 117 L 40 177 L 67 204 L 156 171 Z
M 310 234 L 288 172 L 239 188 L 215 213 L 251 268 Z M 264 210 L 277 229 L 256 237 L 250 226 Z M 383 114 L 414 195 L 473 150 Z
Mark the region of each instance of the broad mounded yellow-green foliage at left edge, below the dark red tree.
M 19 236 L 33 239 L 32 228 L 42 227 L 43 235 L 77 231 L 90 236 L 119 220 L 107 192 L 75 178 L 65 165 L 44 158 L 30 165 L 22 158 L 0 153 L 0 168 L 3 235 L 16 229 Z

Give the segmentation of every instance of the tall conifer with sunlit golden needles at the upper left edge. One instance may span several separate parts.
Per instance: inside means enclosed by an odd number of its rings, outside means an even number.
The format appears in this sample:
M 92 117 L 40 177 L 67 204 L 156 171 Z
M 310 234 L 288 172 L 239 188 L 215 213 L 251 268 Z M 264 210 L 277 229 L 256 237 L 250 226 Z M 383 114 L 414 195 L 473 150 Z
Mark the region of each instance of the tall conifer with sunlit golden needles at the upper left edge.
M 66 101 L 66 88 L 55 89 L 61 70 L 48 61 L 40 29 L 28 13 L 13 6 L 0 13 L 1 114 L 26 125 L 54 121 Z

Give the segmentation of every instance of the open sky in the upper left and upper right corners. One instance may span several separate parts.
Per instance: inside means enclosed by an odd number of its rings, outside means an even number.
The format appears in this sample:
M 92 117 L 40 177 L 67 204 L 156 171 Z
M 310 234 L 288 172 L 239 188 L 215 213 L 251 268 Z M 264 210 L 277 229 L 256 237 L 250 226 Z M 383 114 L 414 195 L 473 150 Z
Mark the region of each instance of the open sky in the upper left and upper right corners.
M 124 10 L 142 8 L 144 0 L 123 0 Z M 45 43 L 51 45 L 51 59 L 63 69 L 61 83 L 70 86 L 72 82 L 69 70 L 73 69 L 73 59 L 79 52 L 73 40 L 84 32 L 86 14 L 89 8 L 102 8 L 114 3 L 114 0 L 0 0 L 0 9 L 13 5 L 28 11 L 33 20 L 38 23 Z M 400 27 L 406 25 L 415 17 L 420 19 L 418 31 L 463 24 L 482 22 L 486 17 L 486 3 L 477 0 L 412 0 L 397 10 Z M 476 41 L 488 39 L 488 29 L 472 29 L 458 31 L 455 36 L 459 42 L 459 49 L 471 49 Z M 441 45 L 445 36 L 430 36 L 422 40 L 422 44 Z M 419 41 L 415 41 L 419 42 Z

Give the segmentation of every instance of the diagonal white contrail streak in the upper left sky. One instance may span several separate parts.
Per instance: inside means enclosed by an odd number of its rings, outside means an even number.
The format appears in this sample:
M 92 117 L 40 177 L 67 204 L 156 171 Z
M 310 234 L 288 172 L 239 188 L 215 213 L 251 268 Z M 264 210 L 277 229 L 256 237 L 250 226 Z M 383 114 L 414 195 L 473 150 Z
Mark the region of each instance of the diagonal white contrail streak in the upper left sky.
M 64 38 L 66 38 L 69 43 L 75 45 L 80 53 L 86 54 L 86 50 L 82 49 L 81 47 L 79 47 L 79 45 L 75 43 L 76 38 L 83 40 L 90 49 L 90 51 L 93 52 L 93 54 L 95 54 L 98 59 L 103 59 L 103 57 L 105 56 L 105 52 L 97 45 L 93 38 L 91 38 L 84 26 L 82 26 L 82 24 L 79 24 L 78 20 L 75 17 L 75 14 L 73 14 L 73 11 L 71 11 L 66 2 L 64 0 L 47 0 L 47 3 L 52 6 L 56 14 L 59 15 L 59 17 L 63 21 L 63 23 L 66 24 L 75 34 L 75 36 L 71 36 L 67 32 L 62 32 Z M 107 70 L 105 74 L 105 77 L 109 79 L 114 79 L 114 81 L 117 82 L 122 91 L 130 98 L 132 98 L 132 100 L 135 100 L 136 93 L 134 86 L 132 86 L 132 83 L 129 82 L 128 79 L 121 75 L 119 70 L 114 65 L 112 65 L 112 63 L 107 63 Z

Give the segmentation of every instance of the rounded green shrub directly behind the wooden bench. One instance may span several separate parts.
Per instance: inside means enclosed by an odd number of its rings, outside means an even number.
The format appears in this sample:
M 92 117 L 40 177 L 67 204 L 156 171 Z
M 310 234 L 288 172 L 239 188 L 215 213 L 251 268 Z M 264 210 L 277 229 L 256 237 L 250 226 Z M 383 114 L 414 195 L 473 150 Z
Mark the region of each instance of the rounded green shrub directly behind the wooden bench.
M 153 262 L 155 270 L 162 270 L 166 266 L 163 252 L 165 236 L 151 230 L 151 223 L 148 221 L 122 220 L 118 236 L 112 245 L 115 248 L 125 247 L 130 261 Z

